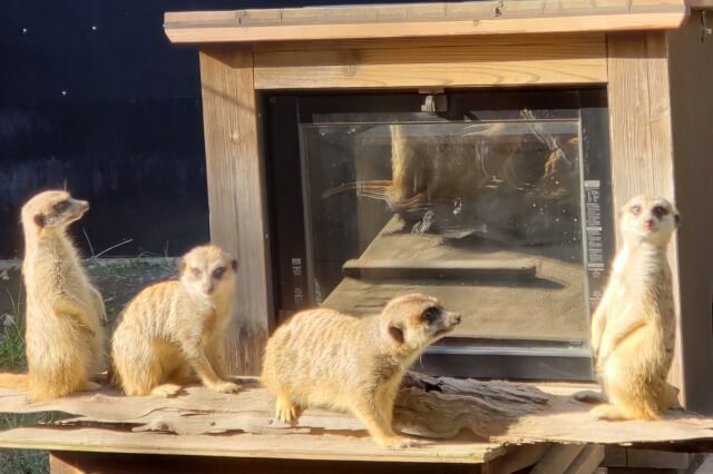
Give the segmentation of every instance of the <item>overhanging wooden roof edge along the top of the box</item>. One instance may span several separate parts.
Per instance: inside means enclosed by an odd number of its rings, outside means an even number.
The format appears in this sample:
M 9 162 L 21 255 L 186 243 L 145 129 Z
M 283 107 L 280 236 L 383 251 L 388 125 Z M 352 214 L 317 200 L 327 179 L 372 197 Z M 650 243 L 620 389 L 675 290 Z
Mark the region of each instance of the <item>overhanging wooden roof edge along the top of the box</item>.
M 500 0 L 167 12 L 164 29 L 176 43 L 349 40 L 666 30 L 687 14 L 684 0 Z

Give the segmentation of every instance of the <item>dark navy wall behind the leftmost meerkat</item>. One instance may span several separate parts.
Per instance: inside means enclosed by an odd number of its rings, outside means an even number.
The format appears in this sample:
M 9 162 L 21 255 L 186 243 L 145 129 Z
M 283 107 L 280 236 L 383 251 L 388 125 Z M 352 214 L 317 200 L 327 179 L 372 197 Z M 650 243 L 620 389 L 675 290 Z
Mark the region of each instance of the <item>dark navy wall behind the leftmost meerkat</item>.
M 353 2 L 1 0 L 0 258 L 21 257 L 19 208 L 48 188 L 91 203 L 74 227 L 86 255 L 85 233 L 94 253 L 133 239 L 107 255 L 207 240 L 198 59 L 164 11 Z

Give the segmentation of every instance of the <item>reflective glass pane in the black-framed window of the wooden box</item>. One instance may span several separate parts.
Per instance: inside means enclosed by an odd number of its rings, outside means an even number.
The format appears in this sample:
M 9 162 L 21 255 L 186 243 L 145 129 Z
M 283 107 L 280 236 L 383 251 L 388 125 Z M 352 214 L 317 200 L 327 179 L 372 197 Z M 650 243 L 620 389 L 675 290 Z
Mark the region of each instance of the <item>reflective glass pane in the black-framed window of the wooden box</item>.
M 421 292 L 463 315 L 459 337 L 587 338 L 576 120 L 301 134 L 315 304 Z

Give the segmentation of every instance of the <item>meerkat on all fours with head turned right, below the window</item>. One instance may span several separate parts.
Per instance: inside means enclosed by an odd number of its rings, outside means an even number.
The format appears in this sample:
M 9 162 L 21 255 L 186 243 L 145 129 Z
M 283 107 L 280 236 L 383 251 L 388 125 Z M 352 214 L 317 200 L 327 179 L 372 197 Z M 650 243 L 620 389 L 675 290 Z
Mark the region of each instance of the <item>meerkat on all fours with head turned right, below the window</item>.
M 294 315 L 265 347 L 262 382 L 276 396 L 275 417 L 294 425 L 307 407 L 351 412 L 379 444 L 416 444 L 391 427 L 399 386 L 426 347 L 459 323 L 460 315 L 417 294 L 392 299 L 379 315 Z

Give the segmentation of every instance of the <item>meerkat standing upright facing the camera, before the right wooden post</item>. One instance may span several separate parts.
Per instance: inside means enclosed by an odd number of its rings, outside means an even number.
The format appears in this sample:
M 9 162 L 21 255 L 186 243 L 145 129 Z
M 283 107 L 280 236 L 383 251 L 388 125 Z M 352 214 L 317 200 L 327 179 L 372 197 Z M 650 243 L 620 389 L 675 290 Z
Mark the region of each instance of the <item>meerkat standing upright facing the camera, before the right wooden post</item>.
M 621 210 L 623 248 L 592 317 L 592 350 L 603 394 L 575 398 L 603 402 L 599 419 L 657 419 L 676 405 L 666 382 L 674 355 L 675 310 L 666 247 L 678 213 L 666 199 L 637 196 Z

